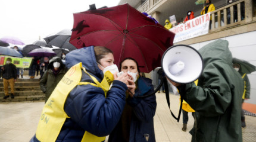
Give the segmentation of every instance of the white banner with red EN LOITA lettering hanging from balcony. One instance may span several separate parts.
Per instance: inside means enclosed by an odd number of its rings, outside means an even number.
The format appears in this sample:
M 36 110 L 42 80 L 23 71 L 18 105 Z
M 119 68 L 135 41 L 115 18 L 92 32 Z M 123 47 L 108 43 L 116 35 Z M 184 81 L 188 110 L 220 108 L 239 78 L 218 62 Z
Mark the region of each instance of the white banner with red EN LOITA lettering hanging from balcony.
M 175 33 L 173 43 L 208 34 L 210 16 L 210 13 L 207 13 L 171 28 L 170 31 Z

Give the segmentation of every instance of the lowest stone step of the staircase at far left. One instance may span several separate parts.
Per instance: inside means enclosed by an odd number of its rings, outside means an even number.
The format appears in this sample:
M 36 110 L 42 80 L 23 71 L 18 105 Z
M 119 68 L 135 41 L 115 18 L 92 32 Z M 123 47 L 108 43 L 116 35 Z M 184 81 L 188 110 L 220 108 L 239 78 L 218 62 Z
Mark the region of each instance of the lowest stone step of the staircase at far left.
M 0 102 L 23 102 L 23 101 L 39 101 L 45 100 L 45 95 L 31 95 L 31 96 L 14 96 L 11 99 L 11 96 L 7 99 L 0 98 Z

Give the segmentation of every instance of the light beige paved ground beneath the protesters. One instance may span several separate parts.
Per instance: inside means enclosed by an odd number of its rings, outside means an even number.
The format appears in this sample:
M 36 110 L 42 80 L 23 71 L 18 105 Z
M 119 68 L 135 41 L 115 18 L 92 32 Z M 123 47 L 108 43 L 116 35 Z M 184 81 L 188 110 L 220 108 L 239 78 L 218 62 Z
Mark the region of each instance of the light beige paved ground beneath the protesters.
M 179 96 L 170 95 L 171 110 L 175 115 L 179 109 Z M 0 103 L 0 141 L 29 141 L 35 134 L 39 117 L 44 105 L 39 102 L 4 102 Z M 243 128 L 243 141 L 256 141 L 256 117 L 246 117 Z M 160 142 L 191 141 L 188 131 L 183 132 L 180 122 L 171 117 L 164 93 L 157 93 L 157 112 L 154 117 L 155 136 Z M 193 126 L 193 117 L 189 113 L 188 130 Z

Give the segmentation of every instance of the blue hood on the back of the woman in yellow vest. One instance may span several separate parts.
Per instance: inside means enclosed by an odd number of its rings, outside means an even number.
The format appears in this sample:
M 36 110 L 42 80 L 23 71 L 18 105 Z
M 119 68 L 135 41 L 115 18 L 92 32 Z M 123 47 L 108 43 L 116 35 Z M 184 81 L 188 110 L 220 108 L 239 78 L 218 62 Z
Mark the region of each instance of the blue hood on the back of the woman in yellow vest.
M 66 55 L 65 64 L 68 69 L 80 62 L 82 62 L 82 66 L 85 67 L 88 72 L 96 76 L 101 76 L 101 78 L 103 77 L 103 72 L 96 63 L 94 46 L 76 49 Z

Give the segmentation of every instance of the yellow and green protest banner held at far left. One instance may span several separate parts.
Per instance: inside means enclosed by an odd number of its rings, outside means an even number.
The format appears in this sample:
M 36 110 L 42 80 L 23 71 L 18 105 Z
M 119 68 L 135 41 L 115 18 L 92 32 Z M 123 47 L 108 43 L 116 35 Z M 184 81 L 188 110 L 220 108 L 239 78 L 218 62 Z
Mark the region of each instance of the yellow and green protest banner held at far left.
M 29 68 L 30 63 L 32 61 L 32 57 L 11 57 L 11 56 L 5 56 L 5 55 L 0 55 L 0 66 L 3 66 L 7 60 L 7 58 L 11 58 L 11 63 L 13 63 L 16 67 L 21 67 L 21 68 Z

